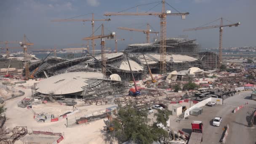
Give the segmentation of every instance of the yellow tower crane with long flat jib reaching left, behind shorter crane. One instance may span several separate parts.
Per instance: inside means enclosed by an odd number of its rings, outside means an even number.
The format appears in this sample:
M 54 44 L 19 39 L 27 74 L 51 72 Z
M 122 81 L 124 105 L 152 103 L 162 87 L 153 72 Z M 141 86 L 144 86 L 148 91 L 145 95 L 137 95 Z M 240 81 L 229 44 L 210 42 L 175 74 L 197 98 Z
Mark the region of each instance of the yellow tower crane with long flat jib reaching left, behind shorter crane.
M 94 19 L 94 13 L 92 13 L 92 19 L 55 19 L 52 20 L 53 22 L 59 22 L 59 21 L 91 21 L 91 27 L 92 27 L 92 37 L 94 37 L 94 21 L 111 21 L 111 19 Z M 91 40 L 91 45 L 92 45 L 92 52 L 93 52 L 93 56 L 94 56 L 94 48 L 95 48 L 95 44 L 94 44 L 94 39 Z M 88 45 L 89 46 L 89 45 Z M 89 51 L 89 49 L 88 49 Z

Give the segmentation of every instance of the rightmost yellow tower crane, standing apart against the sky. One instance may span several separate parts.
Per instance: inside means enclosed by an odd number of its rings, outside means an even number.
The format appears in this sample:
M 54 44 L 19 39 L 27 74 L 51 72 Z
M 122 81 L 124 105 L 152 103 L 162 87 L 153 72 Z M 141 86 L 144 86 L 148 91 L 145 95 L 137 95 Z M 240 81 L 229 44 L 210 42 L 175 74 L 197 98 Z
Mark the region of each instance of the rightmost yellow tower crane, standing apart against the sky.
M 197 27 L 197 28 L 193 28 L 193 29 L 184 29 L 183 30 L 183 31 L 190 31 L 190 30 L 199 30 L 199 29 L 219 28 L 219 61 L 218 61 L 218 68 L 220 68 L 221 64 L 222 64 L 222 33 L 223 33 L 223 27 L 232 27 L 232 26 L 237 27 L 238 25 L 240 25 L 240 22 L 237 22 L 237 23 L 234 23 L 234 24 L 223 25 L 223 18 L 221 17 L 219 19 L 221 20 L 221 24 L 220 25 L 209 26 L 209 27 L 202 27 L 201 26 L 201 27 Z M 217 21 L 219 19 L 216 19 L 215 21 Z M 212 22 L 214 22 L 214 21 L 212 21 Z M 210 23 L 208 23 L 208 24 L 210 24 Z M 204 24 L 204 25 L 206 25 L 206 24 Z

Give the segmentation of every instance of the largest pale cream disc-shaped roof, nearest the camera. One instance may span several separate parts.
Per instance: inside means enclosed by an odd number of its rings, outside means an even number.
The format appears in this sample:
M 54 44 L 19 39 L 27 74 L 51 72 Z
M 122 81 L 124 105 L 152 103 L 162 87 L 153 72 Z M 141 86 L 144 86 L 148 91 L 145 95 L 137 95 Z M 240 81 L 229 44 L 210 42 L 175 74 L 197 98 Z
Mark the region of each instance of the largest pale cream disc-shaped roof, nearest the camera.
M 100 72 L 68 72 L 41 80 L 36 88 L 39 93 L 56 95 L 77 93 L 101 83 L 104 75 Z

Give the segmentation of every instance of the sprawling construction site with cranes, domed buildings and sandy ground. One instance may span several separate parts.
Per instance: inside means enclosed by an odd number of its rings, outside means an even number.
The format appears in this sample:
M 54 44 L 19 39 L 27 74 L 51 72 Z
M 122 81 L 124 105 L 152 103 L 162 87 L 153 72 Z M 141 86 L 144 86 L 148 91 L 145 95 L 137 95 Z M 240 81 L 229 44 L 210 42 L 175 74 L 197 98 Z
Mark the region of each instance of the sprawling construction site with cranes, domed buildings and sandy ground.
M 196 39 L 166 35 L 167 17 L 185 19 L 189 13 L 166 11 L 165 6 L 170 5 L 165 0 L 153 4 L 162 5 L 162 11 L 144 13 L 137 8 L 136 13 L 106 12 L 106 19 L 95 19 L 90 13 L 90 19 L 51 20 L 91 22 L 92 32 L 82 38 L 87 41 L 82 48 L 45 49 L 49 53 L 43 59 L 29 53 L 34 43 L 25 34 L 21 41 L 0 41 L 4 45 L 0 58 L 0 144 L 118 144 L 117 137 L 110 137 L 116 131 L 114 120 L 122 123 L 122 107 L 132 107 L 138 113 L 146 109 L 146 125 L 157 123 L 157 128 L 168 133 L 158 136 L 154 144 L 253 144 L 256 70 L 243 63 L 222 62 L 223 28 L 238 27 L 240 22 L 223 24 L 220 18 L 215 20 L 220 25 L 183 29 L 219 29 L 219 53 L 200 51 Z M 115 22 L 110 16 L 157 16 L 160 32 L 152 31 L 148 23 L 147 29 L 117 27 L 146 34 L 146 43 L 121 49 L 117 41 L 124 39 L 118 39 L 117 32 L 104 25 L 104 21 Z M 96 22 L 103 24 L 95 30 Z M 98 29 L 100 35 L 96 35 Z M 152 34 L 156 35 L 153 42 Z M 96 40 L 100 50 L 96 50 Z M 109 40 L 115 41 L 115 51 L 106 48 Z M 9 44 L 19 45 L 23 52 L 12 53 L 9 49 L 16 47 Z M 74 55 L 58 57 L 60 51 L 74 51 Z M 81 56 L 75 57 L 75 51 Z M 166 126 L 157 122 L 162 110 L 169 112 Z M 219 127 L 213 125 L 215 116 Z M 122 143 L 143 143 L 130 141 Z

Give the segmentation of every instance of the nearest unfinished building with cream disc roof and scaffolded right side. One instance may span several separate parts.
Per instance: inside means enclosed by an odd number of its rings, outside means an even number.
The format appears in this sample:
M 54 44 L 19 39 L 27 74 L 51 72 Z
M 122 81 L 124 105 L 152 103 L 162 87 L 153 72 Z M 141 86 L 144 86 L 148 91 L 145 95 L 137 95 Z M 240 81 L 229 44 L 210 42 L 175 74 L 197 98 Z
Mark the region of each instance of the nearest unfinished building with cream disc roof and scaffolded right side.
M 100 99 L 124 93 L 125 86 L 121 81 L 107 79 L 96 69 L 74 66 L 65 73 L 41 80 L 36 90 L 38 95 L 51 96 L 53 99 Z

